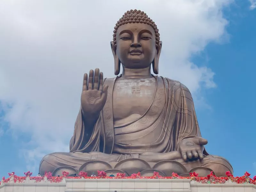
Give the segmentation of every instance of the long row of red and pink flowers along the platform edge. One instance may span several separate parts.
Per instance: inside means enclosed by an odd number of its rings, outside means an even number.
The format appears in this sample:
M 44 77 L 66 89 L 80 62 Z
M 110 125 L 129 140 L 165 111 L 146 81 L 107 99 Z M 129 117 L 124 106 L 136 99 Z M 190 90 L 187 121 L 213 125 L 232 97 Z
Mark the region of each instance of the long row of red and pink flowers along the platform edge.
M 5 179 L 5 177 L 2 178 L 1 183 L 8 183 L 10 182 L 10 179 L 13 177 L 14 183 L 18 182 L 18 183 L 22 183 L 26 180 L 27 177 L 29 177 L 30 180 L 36 180 L 36 182 L 40 182 L 42 180 L 44 180 L 44 177 L 47 178 L 48 181 L 50 181 L 51 183 L 60 183 L 63 178 L 67 178 L 67 179 L 102 179 L 102 178 L 106 178 L 106 179 L 190 179 L 190 180 L 194 180 L 196 182 L 200 182 L 200 183 L 225 183 L 228 180 L 231 180 L 234 183 L 251 183 L 256 185 L 256 176 L 254 176 L 252 179 L 250 178 L 250 173 L 245 172 L 243 176 L 241 177 L 234 177 L 229 171 L 226 172 L 226 177 L 216 177 L 213 172 L 211 172 L 209 175 L 207 175 L 207 177 L 199 177 L 198 174 L 196 172 L 193 173 L 189 173 L 189 177 L 182 177 L 179 176 L 177 173 L 172 173 L 171 177 L 163 177 L 161 176 L 158 172 L 154 172 L 152 176 L 141 176 L 140 172 L 138 173 L 133 173 L 131 176 L 125 176 L 125 173 L 117 173 L 116 177 L 109 177 L 107 176 L 107 173 L 104 171 L 97 171 L 98 172 L 98 176 L 96 177 L 88 177 L 87 176 L 87 172 L 79 172 L 78 176 L 76 177 L 69 177 L 68 176 L 68 172 L 63 171 L 62 175 L 63 176 L 59 176 L 59 177 L 53 177 L 51 172 L 45 172 L 44 176 L 36 176 L 36 177 L 31 177 L 32 172 L 28 171 L 28 172 L 24 172 L 25 176 L 23 177 L 19 177 L 17 175 L 15 175 L 14 172 L 8 173 L 8 175 L 10 176 L 9 178 Z

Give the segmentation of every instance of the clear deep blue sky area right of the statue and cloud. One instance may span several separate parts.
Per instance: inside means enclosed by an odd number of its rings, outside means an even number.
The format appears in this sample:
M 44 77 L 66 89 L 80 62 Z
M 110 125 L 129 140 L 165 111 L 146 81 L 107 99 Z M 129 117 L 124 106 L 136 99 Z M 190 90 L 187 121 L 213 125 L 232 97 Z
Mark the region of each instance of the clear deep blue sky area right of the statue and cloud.
M 235 175 L 256 175 L 255 154 L 255 45 L 256 10 L 236 1 L 225 10 L 230 21 L 226 44 L 209 44 L 193 57 L 197 64 L 211 66 L 217 88 L 205 92 L 211 110 L 197 110 L 202 135 L 211 154 L 227 158 Z

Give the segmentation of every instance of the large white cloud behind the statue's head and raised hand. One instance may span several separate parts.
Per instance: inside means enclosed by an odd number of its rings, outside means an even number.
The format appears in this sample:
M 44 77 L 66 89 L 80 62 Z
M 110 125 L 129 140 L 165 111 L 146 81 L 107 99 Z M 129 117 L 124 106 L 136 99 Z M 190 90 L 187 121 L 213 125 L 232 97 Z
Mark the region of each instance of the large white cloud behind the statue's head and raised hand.
M 214 72 L 197 67 L 189 58 L 226 35 L 222 8 L 228 4 L 228 0 L 2 0 L 0 101 L 12 106 L 4 119 L 14 136 L 23 132 L 31 139 L 20 149 L 29 161 L 36 160 L 29 166 L 38 164 L 45 153 L 68 151 L 83 74 L 98 67 L 105 77 L 114 76 L 109 42 L 124 12 L 140 9 L 156 22 L 163 41 L 160 75 L 180 80 L 195 94 L 202 87 L 215 87 Z

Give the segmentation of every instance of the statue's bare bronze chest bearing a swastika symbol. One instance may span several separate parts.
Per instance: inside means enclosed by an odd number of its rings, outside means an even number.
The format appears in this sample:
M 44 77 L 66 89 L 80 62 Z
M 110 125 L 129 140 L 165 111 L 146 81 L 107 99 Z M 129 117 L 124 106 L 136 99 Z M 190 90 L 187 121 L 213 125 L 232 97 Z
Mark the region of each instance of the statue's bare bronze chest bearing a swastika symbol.
M 153 101 L 155 89 L 155 78 L 117 79 L 113 91 L 114 121 L 124 123 L 143 115 Z

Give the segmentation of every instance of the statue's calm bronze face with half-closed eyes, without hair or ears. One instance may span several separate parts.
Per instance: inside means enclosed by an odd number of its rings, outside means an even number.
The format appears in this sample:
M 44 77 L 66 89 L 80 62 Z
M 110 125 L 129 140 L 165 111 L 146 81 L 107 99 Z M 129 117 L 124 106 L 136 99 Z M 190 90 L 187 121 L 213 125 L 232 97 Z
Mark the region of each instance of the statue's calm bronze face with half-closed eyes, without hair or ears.
M 147 68 L 156 55 L 155 30 L 144 23 L 127 23 L 116 31 L 116 54 L 125 68 Z

